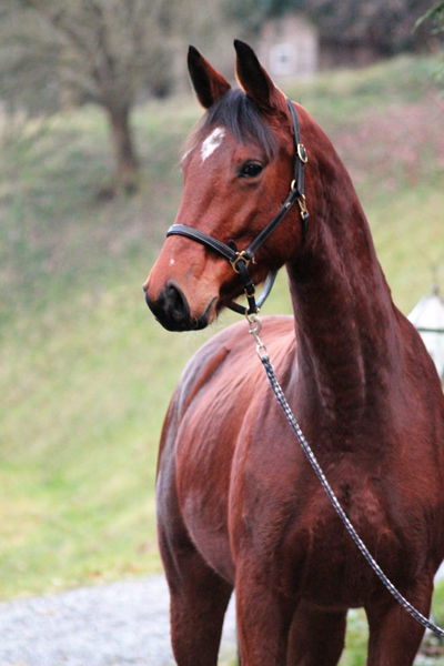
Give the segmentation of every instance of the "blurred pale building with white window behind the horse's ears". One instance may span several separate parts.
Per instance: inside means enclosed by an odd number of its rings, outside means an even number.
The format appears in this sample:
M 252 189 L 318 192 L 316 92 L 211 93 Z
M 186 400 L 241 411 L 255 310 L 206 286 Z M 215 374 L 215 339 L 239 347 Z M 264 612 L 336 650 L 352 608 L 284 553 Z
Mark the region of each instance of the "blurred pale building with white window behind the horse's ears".
M 274 81 L 307 79 L 319 69 L 317 30 L 297 13 L 269 19 L 260 31 L 256 53 Z

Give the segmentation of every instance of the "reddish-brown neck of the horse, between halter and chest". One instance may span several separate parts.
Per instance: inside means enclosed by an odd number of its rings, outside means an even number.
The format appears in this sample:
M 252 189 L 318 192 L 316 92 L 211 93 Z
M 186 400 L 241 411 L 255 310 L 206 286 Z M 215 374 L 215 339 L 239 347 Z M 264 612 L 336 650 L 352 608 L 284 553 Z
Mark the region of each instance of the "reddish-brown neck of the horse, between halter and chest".
M 345 168 L 337 169 L 317 201 L 312 243 L 287 271 L 300 397 L 324 423 L 347 428 L 387 406 L 400 344 L 369 224 Z

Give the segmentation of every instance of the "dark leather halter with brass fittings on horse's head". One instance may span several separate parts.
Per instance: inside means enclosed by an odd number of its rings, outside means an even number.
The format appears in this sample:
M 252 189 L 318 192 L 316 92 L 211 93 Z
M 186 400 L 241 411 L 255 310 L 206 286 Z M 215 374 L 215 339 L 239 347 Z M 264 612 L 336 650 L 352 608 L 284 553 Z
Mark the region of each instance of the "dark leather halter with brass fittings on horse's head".
M 266 279 L 263 292 L 261 296 L 255 300 L 255 287 L 253 281 L 251 279 L 249 272 L 249 263 L 254 258 L 254 254 L 261 248 L 261 245 L 266 241 L 266 239 L 273 233 L 276 226 L 282 222 L 285 218 L 286 213 L 290 211 L 292 205 L 297 201 L 301 214 L 302 222 L 302 239 L 303 242 L 306 241 L 309 234 L 309 211 L 305 206 L 305 194 L 304 194 L 304 165 L 307 162 L 306 150 L 304 145 L 301 143 L 301 130 L 299 125 L 297 114 L 293 107 L 291 100 L 286 98 L 286 103 L 290 109 L 290 113 L 293 121 L 293 133 L 294 133 L 294 145 L 295 145 L 295 157 L 294 157 L 294 175 L 292 183 L 290 185 L 290 192 L 281 206 L 279 213 L 269 222 L 269 224 L 256 235 L 256 238 L 250 243 L 245 250 L 241 252 L 238 251 L 238 248 L 233 241 L 230 241 L 229 244 L 223 243 L 222 241 L 218 241 L 213 236 L 204 233 L 203 231 L 199 231 L 199 229 L 193 229 L 192 226 L 188 226 L 186 224 L 172 224 L 167 232 L 167 238 L 170 235 L 182 235 L 198 243 L 202 243 L 202 245 L 206 245 L 211 250 L 219 252 L 231 263 L 233 271 L 239 273 L 243 287 L 245 291 L 246 300 L 249 303 L 248 307 L 243 307 L 239 305 L 234 301 L 228 303 L 228 307 L 234 310 L 240 314 L 254 314 L 259 312 L 259 309 L 264 303 L 265 299 L 271 292 L 274 280 L 276 278 L 278 271 L 272 271 L 269 273 Z

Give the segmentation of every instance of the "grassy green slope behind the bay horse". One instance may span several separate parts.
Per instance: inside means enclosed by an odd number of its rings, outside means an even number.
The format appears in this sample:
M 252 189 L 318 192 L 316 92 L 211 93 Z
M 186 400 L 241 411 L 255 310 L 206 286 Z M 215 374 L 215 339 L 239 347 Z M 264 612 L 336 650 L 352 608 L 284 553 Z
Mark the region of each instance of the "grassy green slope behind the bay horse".
M 428 290 L 431 265 L 444 263 L 433 67 L 398 59 L 287 89 L 349 167 L 404 312 Z M 153 482 L 163 415 L 193 351 L 235 319 L 169 334 L 141 290 L 175 215 L 180 144 L 198 117 L 191 99 L 138 109 L 142 191 L 107 203 L 97 192 L 112 164 L 95 109 L 3 139 L 1 598 L 160 571 Z M 284 275 L 266 312 L 290 312 Z M 352 614 L 343 666 L 363 663 L 362 623 Z

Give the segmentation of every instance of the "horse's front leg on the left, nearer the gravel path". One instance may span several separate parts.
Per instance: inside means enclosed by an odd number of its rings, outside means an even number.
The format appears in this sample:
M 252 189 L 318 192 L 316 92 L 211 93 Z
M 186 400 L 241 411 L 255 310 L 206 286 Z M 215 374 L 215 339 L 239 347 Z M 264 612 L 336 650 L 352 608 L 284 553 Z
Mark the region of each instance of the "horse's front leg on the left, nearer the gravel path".
M 236 615 L 242 666 L 285 666 L 296 602 L 271 587 L 262 565 L 236 565 Z

